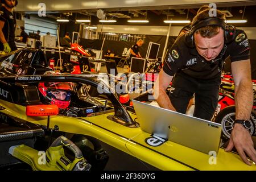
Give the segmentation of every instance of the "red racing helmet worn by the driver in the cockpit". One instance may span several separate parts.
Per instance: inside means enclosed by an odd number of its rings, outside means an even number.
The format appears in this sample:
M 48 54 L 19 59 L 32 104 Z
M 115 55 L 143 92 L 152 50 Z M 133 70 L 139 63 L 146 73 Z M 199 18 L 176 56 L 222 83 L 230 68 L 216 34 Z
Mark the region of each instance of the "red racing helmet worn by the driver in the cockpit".
M 44 75 L 61 75 L 61 73 L 50 71 L 44 73 Z M 40 82 L 38 89 L 43 95 L 46 104 L 55 104 L 59 109 L 66 109 L 71 103 L 74 86 L 72 82 Z M 63 94 L 63 96 L 58 97 L 57 94 Z

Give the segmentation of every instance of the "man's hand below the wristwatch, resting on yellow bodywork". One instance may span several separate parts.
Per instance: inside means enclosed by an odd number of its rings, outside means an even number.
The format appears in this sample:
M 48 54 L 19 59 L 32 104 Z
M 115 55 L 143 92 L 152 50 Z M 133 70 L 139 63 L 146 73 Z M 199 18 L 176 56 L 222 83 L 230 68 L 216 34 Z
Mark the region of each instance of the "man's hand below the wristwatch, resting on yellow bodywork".
M 241 124 L 234 124 L 234 128 L 229 140 L 228 147 L 225 151 L 231 151 L 233 147 L 236 147 L 240 157 L 243 162 L 251 165 L 249 160 L 247 160 L 245 153 L 256 163 L 256 151 L 254 150 L 253 140 L 249 134 L 249 131 L 245 129 Z

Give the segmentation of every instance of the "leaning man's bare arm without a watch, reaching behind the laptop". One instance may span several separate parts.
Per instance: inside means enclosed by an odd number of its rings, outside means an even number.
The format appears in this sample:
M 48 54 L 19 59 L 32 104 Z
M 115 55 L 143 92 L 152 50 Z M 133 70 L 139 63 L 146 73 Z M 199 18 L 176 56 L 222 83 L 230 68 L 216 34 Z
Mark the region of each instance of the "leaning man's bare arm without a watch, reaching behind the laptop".
M 172 106 L 170 98 L 166 93 L 166 89 L 168 85 L 170 85 L 172 78 L 173 76 L 167 75 L 162 69 L 155 82 L 153 96 L 160 107 L 176 111 L 174 106 Z

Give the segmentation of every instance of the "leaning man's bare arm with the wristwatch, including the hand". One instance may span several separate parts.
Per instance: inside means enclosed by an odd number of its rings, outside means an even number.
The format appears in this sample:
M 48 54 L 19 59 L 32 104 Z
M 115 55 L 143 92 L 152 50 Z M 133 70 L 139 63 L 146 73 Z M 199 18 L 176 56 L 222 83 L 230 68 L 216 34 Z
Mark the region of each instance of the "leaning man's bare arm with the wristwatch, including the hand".
M 232 75 L 235 84 L 236 119 L 250 119 L 253 107 L 253 88 L 251 84 L 250 60 L 235 61 L 232 63 Z M 234 124 L 226 151 L 236 147 L 243 162 L 248 165 L 245 153 L 256 163 L 256 151 L 249 131 L 241 124 Z

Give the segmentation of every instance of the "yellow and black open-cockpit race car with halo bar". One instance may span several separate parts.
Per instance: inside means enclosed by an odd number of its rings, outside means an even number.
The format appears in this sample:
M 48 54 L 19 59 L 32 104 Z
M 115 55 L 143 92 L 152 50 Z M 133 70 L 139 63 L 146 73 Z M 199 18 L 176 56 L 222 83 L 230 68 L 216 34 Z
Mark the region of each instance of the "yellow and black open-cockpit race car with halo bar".
M 77 92 L 73 94 L 72 102 L 81 107 L 81 115 L 69 117 L 67 115 L 31 116 L 26 114 L 28 106 L 40 105 L 39 82 L 73 82 Z M 97 98 L 97 105 L 93 105 L 93 98 L 86 94 L 85 85 L 101 88 Z M 64 133 L 83 139 L 73 141 L 79 146 L 84 142 L 96 152 L 95 143 L 105 148 L 104 155 L 110 158 L 108 164 L 101 169 L 138 169 L 138 163 L 143 163 L 143 169 L 161 170 L 256 170 L 256 166 L 247 166 L 236 152 L 225 152 L 220 148 L 217 156 L 207 155 L 170 140 L 159 146 L 150 146 L 145 142 L 154 137 L 145 133 L 139 127 L 133 109 L 124 107 L 109 85 L 105 85 L 98 75 L 33 75 L 0 77 L 0 113 L 16 120 L 27 121 L 38 126 L 51 129 L 55 133 Z M 101 102 L 101 104 L 100 104 Z M 75 136 L 75 137 L 74 137 Z M 66 136 L 67 137 L 67 136 Z M 86 140 L 88 139 L 88 140 Z M 97 142 L 95 142 L 97 141 Z M 161 140 L 159 139 L 158 142 Z M 102 146 L 100 148 L 102 148 Z M 80 146 L 79 146 L 80 147 Z M 108 148 L 108 149 L 107 149 Z M 44 148 L 45 149 L 45 148 Z M 89 158 L 86 148 L 81 149 L 84 158 Z M 114 152 L 114 153 L 113 153 Z M 113 153 L 113 154 L 112 154 Z M 98 153 L 99 154 L 99 153 Z M 87 156 L 86 156 L 87 155 Z M 128 159 L 128 160 L 127 160 Z M 99 160 L 106 163 L 107 160 Z M 145 164 L 145 165 L 144 165 Z M 91 163 L 93 168 L 93 162 Z M 129 166 L 125 168 L 125 166 Z M 145 167 L 146 166 L 146 167 Z

